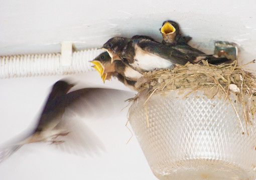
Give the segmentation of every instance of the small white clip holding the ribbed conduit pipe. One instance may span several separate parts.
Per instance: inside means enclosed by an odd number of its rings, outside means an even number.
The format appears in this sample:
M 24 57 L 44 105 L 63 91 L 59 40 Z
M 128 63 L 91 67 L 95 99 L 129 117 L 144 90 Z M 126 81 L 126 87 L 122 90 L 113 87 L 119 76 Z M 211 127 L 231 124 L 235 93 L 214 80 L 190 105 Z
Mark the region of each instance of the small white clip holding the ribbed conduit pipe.
M 72 42 L 63 41 L 61 42 L 61 58 L 60 64 L 62 66 L 70 66 L 72 62 L 72 52 L 75 49 Z

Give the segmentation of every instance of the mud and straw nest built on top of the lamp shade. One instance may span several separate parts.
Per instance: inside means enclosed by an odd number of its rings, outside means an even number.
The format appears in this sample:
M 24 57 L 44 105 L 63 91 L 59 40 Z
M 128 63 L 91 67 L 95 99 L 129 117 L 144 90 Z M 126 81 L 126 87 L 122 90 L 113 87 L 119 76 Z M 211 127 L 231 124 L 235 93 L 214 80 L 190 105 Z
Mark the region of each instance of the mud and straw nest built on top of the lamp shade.
M 171 69 L 145 72 L 136 83 L 138 94 L 132 100 L 145 95 L 146 104 L 154 93 L 178 90 L 179 95 L 185 98 L 192 92 L 203 91 L 209 99 L 228 99 L 237 118 L 240 120 L 244 117 L 246 124 L 250 124 L 256 111 L 256 78 L 251 72 L 245 71 L 249 63 L 238 66 L 237 61 L 220 65 L 212 65 L 207 61 L 202 64 L 188 62 L 185 65 L 176 64 Z M 235 96 L 234 101 L 230 100 L 231 93 Z M 242 105 L 240 114 L 235 103 Z

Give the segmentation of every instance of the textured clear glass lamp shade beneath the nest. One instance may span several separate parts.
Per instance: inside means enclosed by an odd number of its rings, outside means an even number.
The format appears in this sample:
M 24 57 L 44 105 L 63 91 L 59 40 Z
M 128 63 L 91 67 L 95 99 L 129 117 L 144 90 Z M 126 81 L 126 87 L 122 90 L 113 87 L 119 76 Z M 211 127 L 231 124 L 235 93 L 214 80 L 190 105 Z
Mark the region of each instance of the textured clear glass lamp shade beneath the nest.
M 153 173 L 159 179 L 255 179 L 255 124 L 247 125 L 247 135 L 244 118 L 237 119 L 229 100 L 185 94 L 152 95 L 150 127 L 146 99 L 130 107 L 130 123 Z

